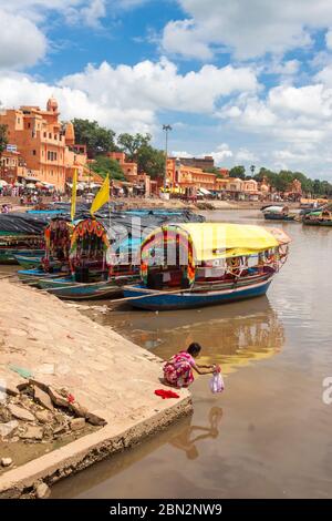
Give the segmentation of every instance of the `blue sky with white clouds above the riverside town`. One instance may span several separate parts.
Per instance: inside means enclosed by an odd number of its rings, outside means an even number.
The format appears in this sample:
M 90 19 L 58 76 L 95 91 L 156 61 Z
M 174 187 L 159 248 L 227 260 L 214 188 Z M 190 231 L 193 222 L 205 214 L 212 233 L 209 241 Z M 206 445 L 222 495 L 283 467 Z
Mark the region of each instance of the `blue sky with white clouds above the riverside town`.
M 331 0 L 0 0 L 0 103 L 332 181 Z

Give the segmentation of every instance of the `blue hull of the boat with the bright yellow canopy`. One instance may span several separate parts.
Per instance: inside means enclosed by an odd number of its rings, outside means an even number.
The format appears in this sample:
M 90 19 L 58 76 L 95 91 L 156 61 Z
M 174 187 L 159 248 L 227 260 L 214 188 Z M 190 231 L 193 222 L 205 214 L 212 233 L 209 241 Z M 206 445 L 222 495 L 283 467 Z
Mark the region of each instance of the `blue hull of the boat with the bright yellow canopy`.
M 124 296 L 132 298 L 128 303 L 141 309 L 167 310 L 167 309 L 188 309 L 203 306 L 212 306 L 218 304 L 228 304 L 247 298 L 260 297 L 267 293 L 271 284 L 271 278 L 251 286 L 234 287 L 231 289 L 195 293 L 183 292 L 167 294 L 155 289 L 147 289 L 142 285 L 125 286 Z M 143 297 L 144 298 L 137 298 Z

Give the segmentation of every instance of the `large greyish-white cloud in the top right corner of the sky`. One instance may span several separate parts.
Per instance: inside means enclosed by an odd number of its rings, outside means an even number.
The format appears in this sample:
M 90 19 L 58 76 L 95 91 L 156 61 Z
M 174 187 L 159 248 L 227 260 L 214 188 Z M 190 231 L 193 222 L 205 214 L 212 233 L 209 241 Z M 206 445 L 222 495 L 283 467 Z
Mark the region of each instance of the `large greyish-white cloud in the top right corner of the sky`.
M 311 34 L 332 25 L 330 0 L 178 0 L 186 20 L 170 21 L 163 47 L 187 58 L 209 59 L 214 47 L 238 59 L 311 44 Z M 330 37 L 329 37 L 330 38 Z M 330 41 L 330 40 L 328 40 Z M 196 50 L 196 54 L 195 54 Z

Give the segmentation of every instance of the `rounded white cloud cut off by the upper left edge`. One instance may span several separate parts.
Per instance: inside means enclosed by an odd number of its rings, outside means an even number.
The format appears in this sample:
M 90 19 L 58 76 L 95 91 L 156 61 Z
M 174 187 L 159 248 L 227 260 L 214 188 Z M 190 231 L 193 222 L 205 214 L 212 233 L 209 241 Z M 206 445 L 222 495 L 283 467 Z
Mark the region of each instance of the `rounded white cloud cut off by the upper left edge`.
M 28 19 L 0 7 L 0 69 L 33 65 L 46 52 L 46 39 Z

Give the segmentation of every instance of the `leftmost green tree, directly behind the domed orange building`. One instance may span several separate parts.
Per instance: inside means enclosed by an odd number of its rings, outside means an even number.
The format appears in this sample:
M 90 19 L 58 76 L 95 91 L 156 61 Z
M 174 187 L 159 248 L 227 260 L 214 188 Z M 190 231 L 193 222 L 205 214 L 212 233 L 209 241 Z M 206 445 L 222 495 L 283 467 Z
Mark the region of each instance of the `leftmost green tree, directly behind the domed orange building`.
M 72 121 L 77 144 L 86 145 L 87 156 L 94 157 L 105 152 L 116 152 L 115 132 L 100 126 L 96 121 L 74 119 Z

